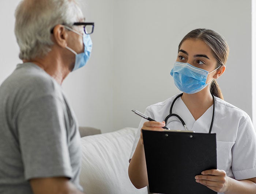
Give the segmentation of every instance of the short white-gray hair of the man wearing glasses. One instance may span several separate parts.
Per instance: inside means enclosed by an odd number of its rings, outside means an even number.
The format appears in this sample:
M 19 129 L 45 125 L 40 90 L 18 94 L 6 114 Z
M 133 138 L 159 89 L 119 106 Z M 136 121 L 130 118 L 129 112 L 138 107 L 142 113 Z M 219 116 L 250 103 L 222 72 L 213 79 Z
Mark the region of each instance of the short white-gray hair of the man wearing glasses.
M 15 11 L 15 35 L 20 59 L 44 57 L 53 45 L 50 30 L 83 19 L 75 0 L 22 0 Z

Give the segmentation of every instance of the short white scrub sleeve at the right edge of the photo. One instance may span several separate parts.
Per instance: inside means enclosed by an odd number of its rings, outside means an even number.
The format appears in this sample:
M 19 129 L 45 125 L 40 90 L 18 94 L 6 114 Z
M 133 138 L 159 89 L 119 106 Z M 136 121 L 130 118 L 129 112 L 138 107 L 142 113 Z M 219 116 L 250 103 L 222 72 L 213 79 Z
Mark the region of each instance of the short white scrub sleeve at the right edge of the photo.
M 238 128 L 232 153 L 234 178 L 241 180 L 256 177 L 256 133 L 249 116 Z

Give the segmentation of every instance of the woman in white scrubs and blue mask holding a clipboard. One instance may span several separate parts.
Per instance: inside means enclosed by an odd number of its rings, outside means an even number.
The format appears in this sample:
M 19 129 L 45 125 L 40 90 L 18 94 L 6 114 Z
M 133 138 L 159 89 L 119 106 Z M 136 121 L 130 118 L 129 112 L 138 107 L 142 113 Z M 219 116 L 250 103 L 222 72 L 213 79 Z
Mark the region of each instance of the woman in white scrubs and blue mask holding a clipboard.
M 136 188 L 148 185 L 141 129 L 162 131 L 166 125 L 185 130 L 177 117 L 164 121 L 173 103 L 172 113 L 184 120 L 188 130 L 216 133 L 218 169 L 202 171 L 195 181 L 219 193 L 256 193 L 256 134 L 252 121 L 243 110 L 223 100 L 215 81 L 226 69 L 228 54 L 226 40 L 213 30 L 196 29 L 181 40 L 171 75 L 182 93 L 146 108 L 147 116 L 163 122 L 140 122 L 128 169 Z

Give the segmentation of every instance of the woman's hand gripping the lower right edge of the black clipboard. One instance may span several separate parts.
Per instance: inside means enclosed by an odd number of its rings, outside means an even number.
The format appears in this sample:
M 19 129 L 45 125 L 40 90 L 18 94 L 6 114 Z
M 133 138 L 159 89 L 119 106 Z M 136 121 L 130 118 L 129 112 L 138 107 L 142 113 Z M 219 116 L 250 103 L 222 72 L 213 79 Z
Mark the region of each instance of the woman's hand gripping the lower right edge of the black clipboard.
M 229 177 L 224 170 L 212 169 L 201 172 L 195 176 L 196 182 L 207 186 L 211 190 L 224 193 L 228 189 Z

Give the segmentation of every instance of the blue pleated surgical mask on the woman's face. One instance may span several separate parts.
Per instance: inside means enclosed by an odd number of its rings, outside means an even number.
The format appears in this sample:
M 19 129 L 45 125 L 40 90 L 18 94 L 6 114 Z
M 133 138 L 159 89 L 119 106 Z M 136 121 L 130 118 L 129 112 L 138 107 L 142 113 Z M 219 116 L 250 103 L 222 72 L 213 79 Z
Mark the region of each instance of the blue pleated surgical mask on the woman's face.
M 174 63 L 174 67 L 171 71 L 174 84 L 180 91 L 188 94 L 194 94 L 204 89 L 211 82 L 206 84 L 207 76 L 210 73 L 204 69 L 194 67 L 189 63 L 181 63 L 177 61 Z

